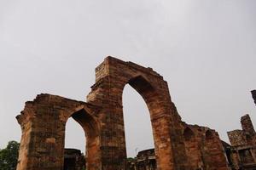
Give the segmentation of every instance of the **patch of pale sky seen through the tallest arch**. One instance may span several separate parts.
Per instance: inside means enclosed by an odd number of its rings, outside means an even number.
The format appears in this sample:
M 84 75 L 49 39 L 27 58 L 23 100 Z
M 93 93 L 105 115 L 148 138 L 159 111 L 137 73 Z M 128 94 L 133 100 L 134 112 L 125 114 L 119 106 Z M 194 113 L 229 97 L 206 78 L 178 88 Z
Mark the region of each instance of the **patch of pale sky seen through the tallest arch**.
M 129 84 L 125 85 L 123 91 L 123 112 L 127 157 L 136 157 L 140 150 L 154 148 L 148 107 L 142 96 Z

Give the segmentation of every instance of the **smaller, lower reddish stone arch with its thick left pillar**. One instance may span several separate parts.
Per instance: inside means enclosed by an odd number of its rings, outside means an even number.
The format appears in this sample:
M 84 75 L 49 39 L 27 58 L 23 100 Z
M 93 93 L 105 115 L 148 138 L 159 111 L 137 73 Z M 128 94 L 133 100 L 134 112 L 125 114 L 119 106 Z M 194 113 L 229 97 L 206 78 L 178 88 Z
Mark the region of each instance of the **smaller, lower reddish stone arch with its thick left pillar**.
M 100 129 L 95 114 L 98 108 L 72 99 L 40 94 L 26 102 L 17 116 L 22 129 L 17 170 L 63 169 L 65 127 L 73 116 L 87 135 L 86 167 L 101 169 Z

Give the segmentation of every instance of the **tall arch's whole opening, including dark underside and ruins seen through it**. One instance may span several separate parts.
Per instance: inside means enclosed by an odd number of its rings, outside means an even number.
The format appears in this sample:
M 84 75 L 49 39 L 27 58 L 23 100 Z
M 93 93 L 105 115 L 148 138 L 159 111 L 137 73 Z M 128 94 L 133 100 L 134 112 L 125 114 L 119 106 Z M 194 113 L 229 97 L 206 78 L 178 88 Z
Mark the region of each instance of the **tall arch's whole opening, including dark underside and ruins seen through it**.
M 127 157 L 136 157 L 132 168 L 156 168 L 152 113 L 157 96 L 143 77 L 132 78 L 123 90 L 123 112 Z M 150 158 L 150 159 L 149 159 Z M 153 158 L 153 159 L 152 159 Z M 144 160 L 138 161 L 138 160 Z

